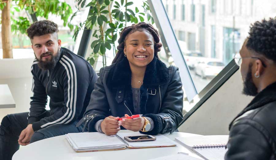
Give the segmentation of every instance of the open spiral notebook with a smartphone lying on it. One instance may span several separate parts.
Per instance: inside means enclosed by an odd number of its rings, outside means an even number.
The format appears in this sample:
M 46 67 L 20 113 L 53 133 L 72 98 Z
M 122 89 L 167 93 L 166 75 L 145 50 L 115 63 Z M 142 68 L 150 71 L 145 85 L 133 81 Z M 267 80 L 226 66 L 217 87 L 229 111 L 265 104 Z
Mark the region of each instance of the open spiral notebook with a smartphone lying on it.
M 156 140 L 144 142 L 128 142 L 125 136 L 142 136 L 139 132 L 117 133 L 114 136 L 107 136 L 98 132 L 68 133 L 66 139 L 76 152 L 87 151 L 109 151 L 129 148 L 144 147 L 171 147 L 176 143 L 162 134 L 155 135 Z

